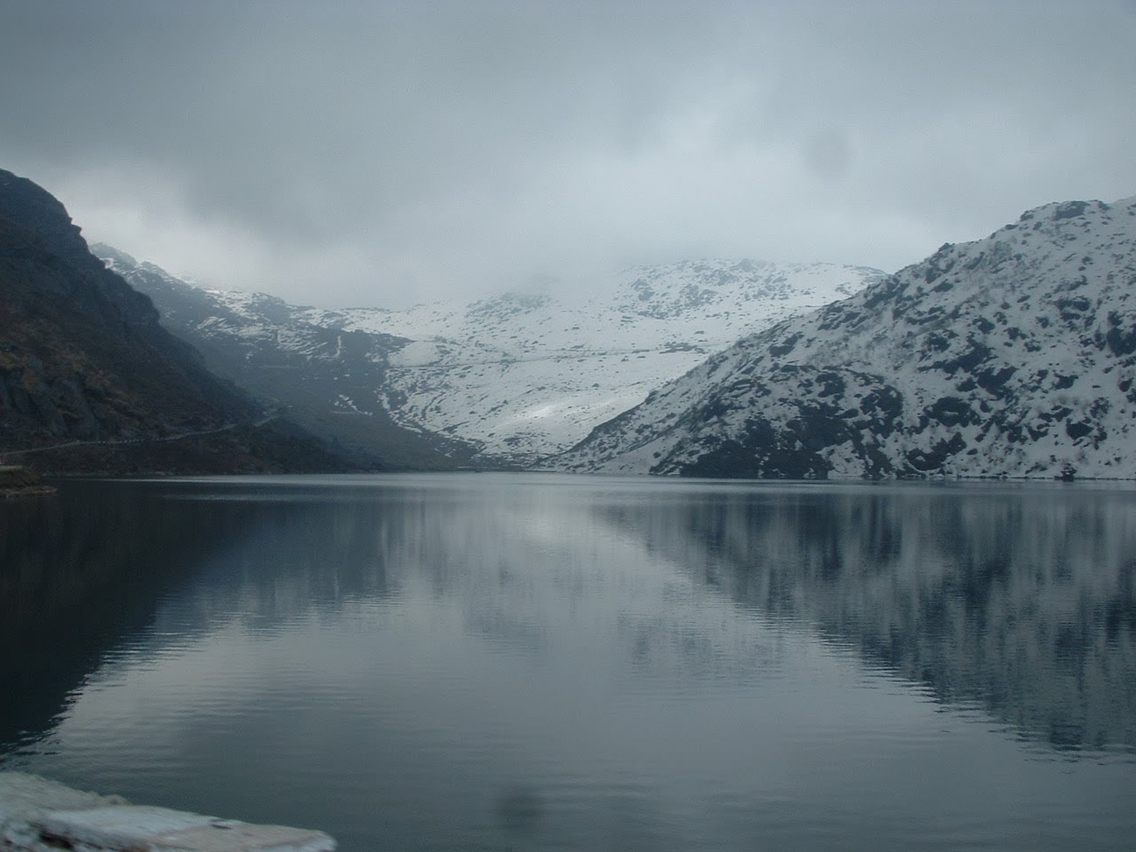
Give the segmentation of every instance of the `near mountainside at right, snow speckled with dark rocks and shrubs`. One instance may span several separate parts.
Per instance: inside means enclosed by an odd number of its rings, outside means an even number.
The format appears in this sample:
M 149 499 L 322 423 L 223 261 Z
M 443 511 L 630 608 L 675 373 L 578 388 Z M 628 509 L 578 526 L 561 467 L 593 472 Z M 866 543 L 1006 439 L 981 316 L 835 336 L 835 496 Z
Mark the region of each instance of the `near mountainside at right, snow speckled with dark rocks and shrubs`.
M 1039 207 L 751 335 L 551 466 L 1136 477 L 1136 198 Z

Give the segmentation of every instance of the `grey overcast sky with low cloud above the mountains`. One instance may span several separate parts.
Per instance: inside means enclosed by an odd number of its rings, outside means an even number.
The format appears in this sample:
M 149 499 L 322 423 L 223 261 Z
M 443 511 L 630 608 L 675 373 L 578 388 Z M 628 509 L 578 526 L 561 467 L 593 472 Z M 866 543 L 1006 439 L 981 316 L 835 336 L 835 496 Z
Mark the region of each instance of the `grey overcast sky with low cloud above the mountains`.
M 1136 194 L 1134 45 L 1133 0 L 0 0 L 0 167 L 89 241 L 303 303 L 892 272 Z

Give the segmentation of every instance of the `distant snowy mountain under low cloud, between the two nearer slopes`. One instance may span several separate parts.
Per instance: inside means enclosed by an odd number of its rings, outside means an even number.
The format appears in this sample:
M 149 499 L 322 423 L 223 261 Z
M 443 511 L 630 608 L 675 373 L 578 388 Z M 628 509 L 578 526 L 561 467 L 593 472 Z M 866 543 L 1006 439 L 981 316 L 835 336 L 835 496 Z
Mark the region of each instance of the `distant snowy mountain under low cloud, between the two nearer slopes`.
M 478 463 L 510 465 L 567 450 L 743 335 L 884 277 L 832 264 L 707 260 L 629 269 L 586 301 L 504 294 L 398 311 L 323 310 L 192 289 L 97 250 L 207 353 L 223 340 L 240 343 L 249 359 L 286 359 L 298 378 L 310 364 L 325 389 L 327 371 L 337 370 L 334 394 L 324 394 L 332 408 L 389 417 L 444 437 L 450 452 L 466 448 Z M 350 361 L 348 341 L 358 354 Z

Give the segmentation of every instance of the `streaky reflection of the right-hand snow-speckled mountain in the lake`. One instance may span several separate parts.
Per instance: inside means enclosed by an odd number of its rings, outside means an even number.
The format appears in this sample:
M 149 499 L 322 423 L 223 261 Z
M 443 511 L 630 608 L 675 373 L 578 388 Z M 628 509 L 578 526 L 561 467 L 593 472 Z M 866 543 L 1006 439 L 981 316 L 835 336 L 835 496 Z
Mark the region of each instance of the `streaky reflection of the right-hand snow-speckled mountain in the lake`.
M 1136 746 L 1136 493 L 808 487 L 599 513 L 734 600 L 1060 749 Z

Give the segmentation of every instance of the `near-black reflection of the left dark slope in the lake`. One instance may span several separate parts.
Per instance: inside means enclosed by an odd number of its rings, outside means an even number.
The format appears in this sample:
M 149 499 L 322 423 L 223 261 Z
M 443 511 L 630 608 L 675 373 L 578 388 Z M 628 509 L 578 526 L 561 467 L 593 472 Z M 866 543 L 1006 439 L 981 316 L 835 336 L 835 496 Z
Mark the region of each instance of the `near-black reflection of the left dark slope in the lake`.
M 169 512 L 127 484 L 0 503 L 0 753 L 48 729 L 102 655 L 247 521 L 239 507 Z

